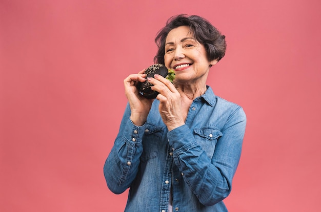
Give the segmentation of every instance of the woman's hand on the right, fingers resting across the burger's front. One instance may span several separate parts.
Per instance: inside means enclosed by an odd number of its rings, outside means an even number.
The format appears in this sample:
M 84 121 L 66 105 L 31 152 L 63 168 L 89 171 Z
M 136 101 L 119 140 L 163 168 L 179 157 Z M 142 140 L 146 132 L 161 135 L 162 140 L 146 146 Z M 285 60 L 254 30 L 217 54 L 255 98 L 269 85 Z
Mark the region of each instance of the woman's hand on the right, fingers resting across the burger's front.
M 181 113 L 180 94 L 174 85 L 166 78 L 155 74 L 155 78 L 148 78 L 154 86 L 152 90 L 159 92 L 159 113 L 169 131 L 185 124 Z

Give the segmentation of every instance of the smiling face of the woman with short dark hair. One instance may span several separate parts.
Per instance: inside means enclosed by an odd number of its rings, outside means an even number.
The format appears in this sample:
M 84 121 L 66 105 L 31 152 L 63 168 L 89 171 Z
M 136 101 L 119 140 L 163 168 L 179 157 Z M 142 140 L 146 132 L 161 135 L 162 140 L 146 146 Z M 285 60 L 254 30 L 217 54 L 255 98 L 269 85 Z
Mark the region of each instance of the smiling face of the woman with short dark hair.
M 210 65 L 217 60 L 208 61 L 205 47 L 193 38 L 187 26 L 172 29 L 165 43 L 165 66 L 175 70 L 175 81 L 196 81 L 206 83 Z

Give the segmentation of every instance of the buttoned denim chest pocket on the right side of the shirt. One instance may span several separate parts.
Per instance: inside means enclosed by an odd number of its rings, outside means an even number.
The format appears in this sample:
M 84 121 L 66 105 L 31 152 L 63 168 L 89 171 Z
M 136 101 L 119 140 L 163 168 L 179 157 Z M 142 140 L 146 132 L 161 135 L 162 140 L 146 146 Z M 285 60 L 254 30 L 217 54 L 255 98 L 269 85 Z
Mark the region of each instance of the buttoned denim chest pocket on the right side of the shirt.
M 217 139 L 222 136 L 222 132 L 213 127 L 197 128 L 194 129 L 195 139 L 206 152 L 209 158 L 213 157 Z

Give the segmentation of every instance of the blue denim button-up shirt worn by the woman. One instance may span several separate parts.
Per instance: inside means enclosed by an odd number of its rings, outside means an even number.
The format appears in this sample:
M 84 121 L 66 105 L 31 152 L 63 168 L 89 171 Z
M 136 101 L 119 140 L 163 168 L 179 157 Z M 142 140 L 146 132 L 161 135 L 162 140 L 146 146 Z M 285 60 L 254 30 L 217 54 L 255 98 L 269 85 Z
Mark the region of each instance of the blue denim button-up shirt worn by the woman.
M 115 194 L 130 187 L 125 211 L 227 211 L 223 199 L 242 150 L 246 115 L 207 87 L 193 100 L 185 125 L 168 131 L 154 100 L 143 126 L 127 104 L 104 175 Z

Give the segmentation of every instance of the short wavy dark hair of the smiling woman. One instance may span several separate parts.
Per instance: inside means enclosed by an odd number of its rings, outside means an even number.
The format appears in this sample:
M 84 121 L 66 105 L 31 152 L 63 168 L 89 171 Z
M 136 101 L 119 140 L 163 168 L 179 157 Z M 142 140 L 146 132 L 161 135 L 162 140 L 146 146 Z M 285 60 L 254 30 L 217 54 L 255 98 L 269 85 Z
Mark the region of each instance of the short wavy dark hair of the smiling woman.
M 155 43 L 158 47 L 156 56 L 154 57 L 155 63 L 164 62 L 165 55 L 165 42 L 168 33 L 177 27 L 188 26 L 194 38 L 203 44 L 207 52 L 209 61 L 222 59 L 226 51 L 225 35 L 222 35 L 208 20 L 198 15 L 188 16 L 180 14 L 172 16 L 167 20 L 166 26 L 160 29 L 156 35 Z

